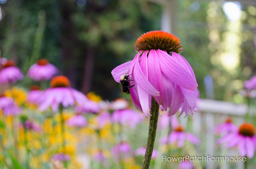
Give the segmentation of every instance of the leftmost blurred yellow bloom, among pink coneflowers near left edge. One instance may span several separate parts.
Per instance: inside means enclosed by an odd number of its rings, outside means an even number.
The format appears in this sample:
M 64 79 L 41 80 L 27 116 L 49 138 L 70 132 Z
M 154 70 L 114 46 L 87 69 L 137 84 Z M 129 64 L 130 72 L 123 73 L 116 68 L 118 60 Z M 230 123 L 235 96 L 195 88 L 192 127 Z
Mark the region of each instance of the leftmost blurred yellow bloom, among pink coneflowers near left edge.
M 4 94 L 7 97 L 12 97 L 18 104 L 18 106 L 25 105 L 27 91 L 21 87 L 12 87 L 11 89 L 5 90 Z

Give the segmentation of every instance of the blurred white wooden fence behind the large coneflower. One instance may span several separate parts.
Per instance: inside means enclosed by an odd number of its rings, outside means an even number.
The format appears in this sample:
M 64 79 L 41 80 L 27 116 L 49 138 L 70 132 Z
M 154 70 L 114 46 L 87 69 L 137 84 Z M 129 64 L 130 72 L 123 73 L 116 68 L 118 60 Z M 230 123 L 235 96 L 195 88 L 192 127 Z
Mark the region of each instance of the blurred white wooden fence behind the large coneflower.
M 225 117 L 232 117 L 236 125 L 241 125 L 245 121 L 245 114 L 248 112 L 248 106 L 245 104 L 237 105 L 231 102 L 216 101 L 210 99 L 200 99 L 197 102 L 199 112 L 194 113 L 193 133 L 197 134 L 202 140 L 206 141 L 205 152 L 202 155 L 210 156 L 231 156 L 227 151 L 226 154 L 216 154 L 217 144 L 214 135 L 214 127 L 219 123 L 225 122 Z M 250 107 L 250 113 L 255 112 L 255 107 Z M 187 119 L 181 119 L 182 125 L 187 124 Z M 204 131 L 202 131 L 204 129 Z M 222 162 L 223 163 L 223 162 Z M 219 162 L 207 162 L 207 169 L 218 168 Z M 237 162 L 237 169 L 243 168 L 243 162 Z M 228 162 L 221 164 L 220 169 L 229 169 Z M 231 169 L 231 168 L 230 168 Z M 234 169 L 234 168 L 232 168 Z

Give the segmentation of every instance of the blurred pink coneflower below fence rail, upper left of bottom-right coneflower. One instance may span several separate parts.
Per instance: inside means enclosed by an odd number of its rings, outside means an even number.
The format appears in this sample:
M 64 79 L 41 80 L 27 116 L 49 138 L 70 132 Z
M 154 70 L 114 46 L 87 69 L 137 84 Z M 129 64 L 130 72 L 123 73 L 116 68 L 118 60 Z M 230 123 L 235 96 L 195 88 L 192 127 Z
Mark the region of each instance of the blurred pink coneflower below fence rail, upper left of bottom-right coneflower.
M 233 124 L 233 119 L 231 117 L 227 118 L 225 123 L 222 123 L 215 127 L 214 129 L 215 133 L 232 133 L 234 131 L 237 131 L 237 126 Z

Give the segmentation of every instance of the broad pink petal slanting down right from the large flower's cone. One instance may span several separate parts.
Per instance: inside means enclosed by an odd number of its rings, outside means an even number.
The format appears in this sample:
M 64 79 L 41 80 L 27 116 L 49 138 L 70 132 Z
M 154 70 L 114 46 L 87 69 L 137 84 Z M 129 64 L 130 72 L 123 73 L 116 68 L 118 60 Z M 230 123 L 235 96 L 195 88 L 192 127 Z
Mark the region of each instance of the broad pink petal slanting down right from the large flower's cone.
M 178 86 L 189 90 L 197 89 L 197 82 L 191 75 L 190 70 L 187 70 L 172 56 L 161 50 L 157 50 L 158 56 L 162 56 L 160 60 L 161 71 L 170 78 Z M 170 73 L 172 72 L 172 73 Z

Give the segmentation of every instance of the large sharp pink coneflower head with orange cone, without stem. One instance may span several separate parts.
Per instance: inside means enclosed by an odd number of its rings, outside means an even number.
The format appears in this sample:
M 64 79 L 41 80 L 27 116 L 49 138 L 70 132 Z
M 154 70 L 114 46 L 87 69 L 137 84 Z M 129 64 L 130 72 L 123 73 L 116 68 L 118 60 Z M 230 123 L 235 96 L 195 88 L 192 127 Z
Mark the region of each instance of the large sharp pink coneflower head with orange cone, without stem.
M 180 53 L 180 40 L 167 32 L 151 31 L 135 43 L 138 54 L 132 61 L 121 64 L 111 72 L 116 82 L 129 74 L 131 98 L 146 117 L 150 115 L 151 95 L 164 110 L 171 107 L 174 115 L 180 107 L 186 116 L 196 107 L 197 82 L 195 74 Z M 181 115 L 180 114 L 180 115 Z

